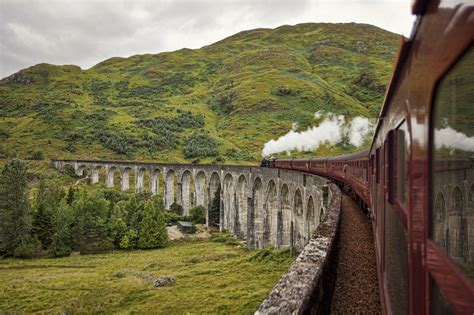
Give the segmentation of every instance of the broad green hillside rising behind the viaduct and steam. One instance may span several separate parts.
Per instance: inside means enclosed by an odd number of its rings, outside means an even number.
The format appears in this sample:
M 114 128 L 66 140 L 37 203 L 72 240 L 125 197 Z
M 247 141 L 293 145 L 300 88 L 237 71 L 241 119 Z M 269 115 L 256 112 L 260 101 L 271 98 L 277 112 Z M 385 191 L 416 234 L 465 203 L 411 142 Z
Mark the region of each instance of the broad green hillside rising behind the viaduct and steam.
M 0 83 L 0 155 L 254 163 L 316 111 L 376 117 L 397 43 L 370 25 L 299 24 L 87 70 L 38 64 Z

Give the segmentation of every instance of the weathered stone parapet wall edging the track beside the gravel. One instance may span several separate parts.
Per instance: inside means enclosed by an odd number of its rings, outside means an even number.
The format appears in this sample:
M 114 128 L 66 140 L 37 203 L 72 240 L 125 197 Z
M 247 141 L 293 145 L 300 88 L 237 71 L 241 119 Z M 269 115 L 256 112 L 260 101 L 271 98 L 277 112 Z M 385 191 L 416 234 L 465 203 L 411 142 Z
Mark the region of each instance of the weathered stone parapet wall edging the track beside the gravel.
M 329 314 L 338 262 L 341 192 L 329 185 L 326 219 L 255 314 Z

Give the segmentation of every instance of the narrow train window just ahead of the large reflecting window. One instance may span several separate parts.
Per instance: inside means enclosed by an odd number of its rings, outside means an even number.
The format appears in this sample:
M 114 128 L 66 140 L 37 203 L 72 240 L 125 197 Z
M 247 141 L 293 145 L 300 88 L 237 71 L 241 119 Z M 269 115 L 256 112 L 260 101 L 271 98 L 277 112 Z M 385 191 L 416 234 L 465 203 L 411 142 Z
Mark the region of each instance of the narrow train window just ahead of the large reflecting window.
M 395 186 L 395 195 L 397 200 L 405 205 L 406 203 L 406 179 L 407 168 L 406 163 L 408 161 L 408 142 L 406 135 L 407 125 L 406 122 L 403 122 L 396 130 L 396 186 Z

